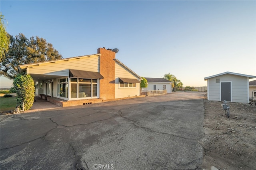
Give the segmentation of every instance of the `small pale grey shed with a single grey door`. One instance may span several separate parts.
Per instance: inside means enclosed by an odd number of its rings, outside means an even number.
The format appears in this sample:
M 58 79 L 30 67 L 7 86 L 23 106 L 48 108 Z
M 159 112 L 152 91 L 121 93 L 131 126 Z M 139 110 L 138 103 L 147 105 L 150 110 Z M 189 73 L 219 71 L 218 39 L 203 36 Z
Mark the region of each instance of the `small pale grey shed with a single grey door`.
M 249 103 L 249 79 L 252 78 L 256 76 L 232 72 L 204 77 L 208 100 Z

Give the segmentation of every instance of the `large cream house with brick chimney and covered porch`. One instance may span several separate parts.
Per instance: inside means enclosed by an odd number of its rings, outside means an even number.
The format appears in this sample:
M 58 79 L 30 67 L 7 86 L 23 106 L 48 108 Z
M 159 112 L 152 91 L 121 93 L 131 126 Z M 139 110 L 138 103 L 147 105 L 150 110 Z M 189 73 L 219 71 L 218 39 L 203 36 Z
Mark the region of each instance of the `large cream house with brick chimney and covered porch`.
M 62 107 L 140 95 L 140 76 L 116 59 L 116 50 L 19 65 L 35 82 L 35 94 Z

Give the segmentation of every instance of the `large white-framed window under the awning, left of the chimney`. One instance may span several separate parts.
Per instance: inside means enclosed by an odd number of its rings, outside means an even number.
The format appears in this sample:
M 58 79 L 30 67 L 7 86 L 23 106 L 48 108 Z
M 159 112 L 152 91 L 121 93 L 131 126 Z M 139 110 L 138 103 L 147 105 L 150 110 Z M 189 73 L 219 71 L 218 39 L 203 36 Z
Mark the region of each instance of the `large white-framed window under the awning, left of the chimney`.
M 71 78 L 71 98 L 97 97 L 97 79 Z

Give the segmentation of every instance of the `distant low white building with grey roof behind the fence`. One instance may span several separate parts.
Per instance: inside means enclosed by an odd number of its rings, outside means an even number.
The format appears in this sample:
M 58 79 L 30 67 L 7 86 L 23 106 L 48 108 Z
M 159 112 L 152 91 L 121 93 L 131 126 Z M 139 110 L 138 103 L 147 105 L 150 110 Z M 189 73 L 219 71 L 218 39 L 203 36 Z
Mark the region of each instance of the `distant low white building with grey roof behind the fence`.
M 148 81 L 148 87 L 143 90 L 166 90 L 167 93 L 172 93 L 172 81 L 164 78 L 144 77 Z

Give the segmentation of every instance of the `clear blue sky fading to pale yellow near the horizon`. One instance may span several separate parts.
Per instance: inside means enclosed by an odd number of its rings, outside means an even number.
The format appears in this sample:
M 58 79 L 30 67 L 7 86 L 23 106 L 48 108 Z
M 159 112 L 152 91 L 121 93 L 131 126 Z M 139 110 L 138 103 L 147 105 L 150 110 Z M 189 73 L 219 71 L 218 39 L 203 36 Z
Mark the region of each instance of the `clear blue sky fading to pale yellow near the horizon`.
M 63 58 L 118 48 L 141 77 L 184 86 L 226 71 L 256 75 L 256 1 L 0 1 L 12 36 L 38 36 Z M 1 87 L 12 81 L 0 77 Z

